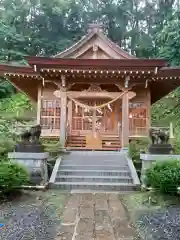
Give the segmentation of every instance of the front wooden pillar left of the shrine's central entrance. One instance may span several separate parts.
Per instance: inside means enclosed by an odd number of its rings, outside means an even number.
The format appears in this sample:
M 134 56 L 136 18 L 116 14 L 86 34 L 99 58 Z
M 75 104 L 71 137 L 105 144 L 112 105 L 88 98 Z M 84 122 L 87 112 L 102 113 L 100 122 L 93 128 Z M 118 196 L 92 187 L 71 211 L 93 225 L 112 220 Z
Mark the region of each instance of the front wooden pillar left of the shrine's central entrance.
M 66 91 L 61 92 L 61 117 L 60 117 L 60 144 L 65 147 L 66 128 L 67 128 L 67 94 Z

